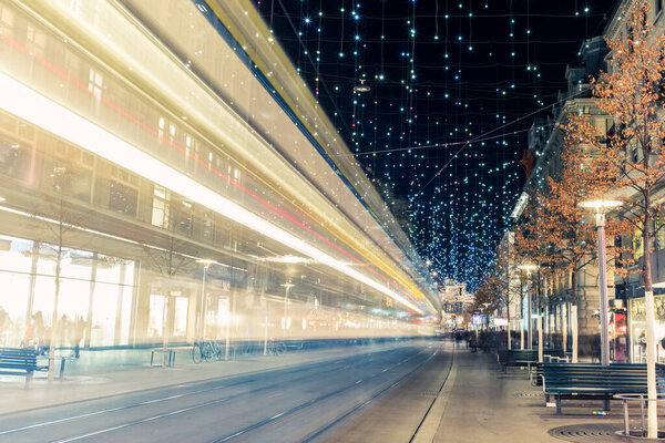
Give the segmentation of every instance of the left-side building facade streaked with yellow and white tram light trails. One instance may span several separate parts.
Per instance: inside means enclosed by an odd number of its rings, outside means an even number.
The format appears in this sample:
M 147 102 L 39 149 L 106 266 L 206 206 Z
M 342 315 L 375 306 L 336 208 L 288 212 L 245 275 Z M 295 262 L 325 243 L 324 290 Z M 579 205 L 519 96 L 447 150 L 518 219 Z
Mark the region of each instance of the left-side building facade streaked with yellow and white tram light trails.
M 0 1 L 0 346 L 429 333 L 426 266 L 233 3 Z

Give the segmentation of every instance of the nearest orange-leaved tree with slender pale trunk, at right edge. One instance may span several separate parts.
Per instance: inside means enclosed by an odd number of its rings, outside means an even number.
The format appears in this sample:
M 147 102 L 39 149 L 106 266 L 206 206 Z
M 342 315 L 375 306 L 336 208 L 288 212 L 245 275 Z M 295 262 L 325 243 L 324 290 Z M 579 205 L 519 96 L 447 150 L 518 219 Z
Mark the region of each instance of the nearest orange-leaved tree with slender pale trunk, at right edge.
M 648 437 L 657 435 L 656 337 L 652 245 L 654 223 L 662 204 L 656 199 L 665 178 L 665 34 L 649 22 L 651 3 L 636 0 L 626 14 L 627 34 L 608 39 L 610 72 L 593 82 L 597 106 L 614 117 L 606 137 L 584 120 L 573 121 L 567 137 L 593 146 L 613 167 L 615 188 L 625 190 L 622 210 L 640 233 L 644 245 L 642 280 L 646 307 L 646 363 L 648 387 Z

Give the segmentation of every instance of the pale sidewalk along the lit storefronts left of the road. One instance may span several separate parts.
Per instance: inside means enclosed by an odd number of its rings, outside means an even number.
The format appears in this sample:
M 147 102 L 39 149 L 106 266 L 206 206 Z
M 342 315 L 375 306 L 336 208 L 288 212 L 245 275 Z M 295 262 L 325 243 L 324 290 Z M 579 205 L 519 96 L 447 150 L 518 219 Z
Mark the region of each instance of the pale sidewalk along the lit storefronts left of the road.
M 334 359 L 409 344 L 411 342 L 402 341 L 347 346 L 287 352 L 279 357 L 258 353 L 242 356 L 233 361 L 212 361 L 200 364 L 192 361 L 188 349 L 183 349 L 177 352 L 174 368 L 150 367 L 150 350 L 146 349 L 82 352 L 80 360 L 68 361 L 64 379 L 55 380 L 52 383 L 47 381 L 45 373 L 35 373 L 30 388 L 25 390 L 23 389 L 24 377 L 0 377 L 0 414 L 206 379 L 307 363 L 323 363 Z M 160 360 L 162 356 L 158 354 Z

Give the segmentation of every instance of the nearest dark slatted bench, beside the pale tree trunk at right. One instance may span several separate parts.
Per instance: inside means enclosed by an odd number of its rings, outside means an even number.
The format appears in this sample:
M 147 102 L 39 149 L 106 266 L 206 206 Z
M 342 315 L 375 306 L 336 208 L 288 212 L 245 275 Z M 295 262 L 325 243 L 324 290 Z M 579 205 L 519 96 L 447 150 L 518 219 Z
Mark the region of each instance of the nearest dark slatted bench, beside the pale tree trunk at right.
M 610 400 L 615 394 L 646 393 L 646 364 L 612 363 L 543 363 L 543 392 L 545 402 L 550 395 L 556 401 L 561 414 L 561 401 L 603 400 L 603 410 L 610 411 Z M 656 368 L 657 391 L 665 392 L 665 367 Z

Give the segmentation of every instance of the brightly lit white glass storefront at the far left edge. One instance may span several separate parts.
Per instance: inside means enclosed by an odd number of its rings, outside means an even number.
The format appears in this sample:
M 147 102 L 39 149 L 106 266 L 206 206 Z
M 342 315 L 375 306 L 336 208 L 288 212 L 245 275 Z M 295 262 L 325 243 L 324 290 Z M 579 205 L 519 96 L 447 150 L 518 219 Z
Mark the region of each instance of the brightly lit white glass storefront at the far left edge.
M 0 346 L 34 337 L 47 341 L 53 324 L 55 248 L 0 236 Z M 76 338 L 92 347 L 129 344 L 134 262 L 63 248 L 58 297 L 59 346 Z M 83 330 L 83 337 L 81 336 Z

